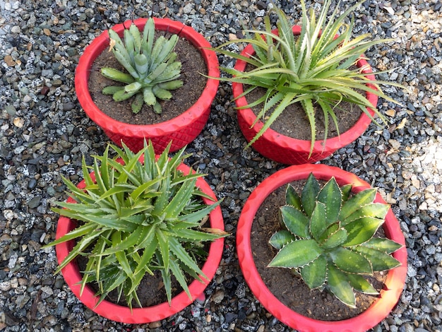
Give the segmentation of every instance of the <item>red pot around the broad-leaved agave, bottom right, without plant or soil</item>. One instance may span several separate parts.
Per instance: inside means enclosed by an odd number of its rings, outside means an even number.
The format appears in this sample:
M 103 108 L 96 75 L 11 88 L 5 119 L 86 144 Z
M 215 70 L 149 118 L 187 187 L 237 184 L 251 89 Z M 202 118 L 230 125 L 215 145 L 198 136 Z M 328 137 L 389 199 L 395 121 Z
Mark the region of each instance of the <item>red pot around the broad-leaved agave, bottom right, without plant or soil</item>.
M 302 332 L 358 332 L 366 331 L 381 322 L 398 302 L 400 293 L 405 284 L 407 275 L 407 250 L 405 248 L 405 238 L 400 230 L 398 220 L 395 218 L 391 209 L 388 211 L 386 221 L 383 224 L 383 230 L 386 237 L 402 244 L 402 248 L 393 253 L 393 257 L 398 259 L 401 266 L 388 271 L 385 289 L 381 290 L 381 295 L 371 307 L 366 309 L 358 316 L 342 321 L 319 321 L 311 319 L 294 312 L 285 304 L 282 304 L 275 295 L 270 292 L 258 273 L 253 254 L 251 251 L 251 227 L 256 211 L 261 203 L 280 186 L 285 186 L 289 182 L 306 179 L 310 173 L 314 174 L 317 179 L 328 181 L 331 177 L 335 177 L 340 186 L 352 184 L 352 191 L 357 193 L 364 189 L 369 189 L 370 185 L 356 175 L 341 170 L 338 167 L 328 165 L 294 165 L 280 170 L 265 179 L 251 193 L 238 222 L 237 228 L 237 252 L 239 265 L 244 274 L 247 284 L 253 294 L 258 298 L 273 316 L 287 324 L 291 328 L 295 328 Z M 385 203 L 380 194 L 376 195 L 376 202 Z M 263 239 L 264 241 L 265 239 Z

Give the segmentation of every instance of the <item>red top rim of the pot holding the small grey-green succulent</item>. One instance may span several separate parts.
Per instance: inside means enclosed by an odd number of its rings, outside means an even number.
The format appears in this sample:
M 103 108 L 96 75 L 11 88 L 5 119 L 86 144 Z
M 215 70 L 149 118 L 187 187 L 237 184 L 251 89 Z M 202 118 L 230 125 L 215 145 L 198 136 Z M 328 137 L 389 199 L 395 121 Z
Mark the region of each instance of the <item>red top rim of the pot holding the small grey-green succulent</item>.
M 138 18 L 136 20 L 127 20 L 124 23 L 114 25 L 112 30 L 117 32 L 120 36 L 123 35 L 124 27 L 129 27 L 131 23 L 135 23 L 138 28 L 143 29 L 147 18 Z M 184 25 L 181 22 L 170 20 L 169 18 L 153 18 L 155 21 L 155 29 L 161 31 L 167 31 L 175 33 L 180 37 L 186 38 L 191 44 L 198 48 L 201 55 L 207 65 L 208 76 L 219 77 L 219 63 L 217 55 L 213 50 L 210 50 L 210 43 L 205 40 L 203 35 L 193 30 L 188 25 Z M 85 52 L 78 61 L 75 76 L 76 94 L 81 107 L 85 110 L 88 117 L 92 119 L 96 124 L 102 128 L 107 128 L 113 132 L 120 133 L 122 136 L 129 136 L 133 138 L 143 137 L 161 137 L 167 134 L 173 133 L 181 128 L 189 126 L 196 117 L 201 117 L 201 114 L 205 112 L 212 104 L 213 99 L 217 93 L 219 81 L 215 78 L 208 78 L 207 83 L 201 96 L 189 109 L 180 114 L 174 119 L 161 122 L 160 124 L 126 124 L 121 121 L 117 121 L 112 117 L 104 114 L 97 105 L 92 101 L 88 89 L 88 80 L 90 76 L 90 69 L 95 59 L 109 47 L 109 34 L 106 31 L 96 37 L 88 47 L 85 48 Z

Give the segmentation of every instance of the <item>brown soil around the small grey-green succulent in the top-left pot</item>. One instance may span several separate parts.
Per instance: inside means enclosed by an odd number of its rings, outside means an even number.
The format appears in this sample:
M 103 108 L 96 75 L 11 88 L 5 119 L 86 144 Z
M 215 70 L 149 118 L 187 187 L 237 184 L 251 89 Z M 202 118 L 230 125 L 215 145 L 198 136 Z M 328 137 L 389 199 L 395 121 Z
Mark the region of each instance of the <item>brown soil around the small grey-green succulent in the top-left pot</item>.
M 157 32 L 157 34 L 165 32 Z M 165 35 L 167 37 L 167 34 Z M 207 78 L 207 66 L 196 47 L 184 39 L 179 38 L 177 46 L 177 60 L 181 61 L 181 81 L 184 82 L 181 88 L 172 90 L 172 99 L 161 101 L 162 113 L 157 114 L 152 107 L 143 105 L 138 114 L 133 114 L 131 109 L 131 102 L 133 97 L 122 102 L 115 102 L 112 95 L 103 95 L 102 89 L 108 85 L 122 85 L 108 78 L 105 78 L 100 73 L 102 67 L 112 67 L 120 71 L 126 71 L 121 64 L 115 59 L 114 55 L 108 52 L 107 49 L 95 59 L 92 66 L 92 71 L 89 77 L 89 91 L 93 102 L 99 109 L 113 119 L 127 123 L 127 124 L 158 124 L 160 122 L 168 121 L 174 117 L 179 116 L 186 109 L 189 109 L 203 93 Z

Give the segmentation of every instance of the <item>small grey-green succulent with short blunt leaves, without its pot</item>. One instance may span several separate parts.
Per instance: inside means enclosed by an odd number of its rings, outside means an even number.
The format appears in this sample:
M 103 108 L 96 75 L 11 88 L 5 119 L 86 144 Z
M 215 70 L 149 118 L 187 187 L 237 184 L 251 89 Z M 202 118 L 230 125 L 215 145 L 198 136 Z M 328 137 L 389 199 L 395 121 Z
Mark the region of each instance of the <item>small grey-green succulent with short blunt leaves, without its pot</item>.
M 112 29 L 109 37 L 110 49 L 127 73 L 109 67 L 102 68 L 101 73 L 126 85 L 107 86 L 102 93 L 113 95 L 117 102 L 135 96 L 131 104 L 133 113 L 140 112 L 143 102 L 161 113 L 159 100 L 169 100 L 172 98 L 170 90 L 183 85 L 183 81 L 178 79 L 181 62 L 177 61 L 177 53 L 174 52 L 178 35 L 169 39 L 160 36 L 155 40 L 155 23 L 151 18 L 145 23 L 143 36 L 132 23 L 129 29 L 124 29 L 124 42 Z

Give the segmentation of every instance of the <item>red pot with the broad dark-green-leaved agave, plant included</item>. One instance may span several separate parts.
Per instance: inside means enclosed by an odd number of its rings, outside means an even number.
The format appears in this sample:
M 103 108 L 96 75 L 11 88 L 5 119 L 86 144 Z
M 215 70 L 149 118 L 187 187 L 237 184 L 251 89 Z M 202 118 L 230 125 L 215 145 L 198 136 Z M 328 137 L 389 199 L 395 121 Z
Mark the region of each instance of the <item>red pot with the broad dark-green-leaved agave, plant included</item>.
M 327 184 L 320 189 L 311 174 Z M 304 189 L 299 189 L 301 196 L 291 186 L 284 191 L 287 184 L 305 180 Z M 264 206 L 267 202 L 271 208 Z M 270 220 L 278 210 L 282 223 L 277 218 Z M 386 239 L 372 239 L 380 225 Z M 268 227 L 265 239 L 260 236 L 263 227 Z M 267 241 L 270 244 L 261 251 L 256 243 Z M 376 326 L 398 302 L 407 274 L 405 239 L 391 208 L 368 183 L 328 165 L 293 165 L 259 184 L 239 218 L 237 252 L 253 294 L 268 312 L 299 331 L 366 331 Z M 357 274 L 371 275 L 374 270 L 389 268 L 380 290 Z M 267 280 L 265 275 L 272 278 Z M 284 275 L 287 279 L 276 279 Z M 275 295 L 270 290 L 275 285 L 287 285 L 289 290 L 283 288 Z M 292 300 L 303 289 L 305 298 Z M 367 309 L 348 307 L 355 306 L 353 289 L 372 294 Z M 329 290 L 338 299 L 321 290 Z M 320 299 L 329 311 L 316 319 L 314 311 L 322 309 Z M 342 313 L 331 309 L 335 302 L 345 302 L 342 307 L 350 316 L 340 319 Z M 356 302 L 356 306 L 361 304 Z M 301 306 L 297 311 L 293 309 L 296 305 Z

